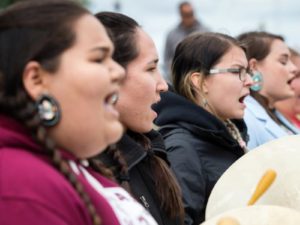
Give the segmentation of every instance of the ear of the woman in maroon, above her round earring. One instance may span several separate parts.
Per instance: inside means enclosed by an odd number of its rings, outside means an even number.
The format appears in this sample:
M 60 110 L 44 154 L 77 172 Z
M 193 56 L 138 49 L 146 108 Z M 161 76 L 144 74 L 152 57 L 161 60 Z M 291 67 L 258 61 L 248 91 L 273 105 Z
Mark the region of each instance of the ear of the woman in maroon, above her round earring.
M 43 69 L 38 62 L 30 61 L 26 64 L 22 80 L 27 94 L 33 100 L 36 100 L 42 93 L 45 92 L 43 79 Z

